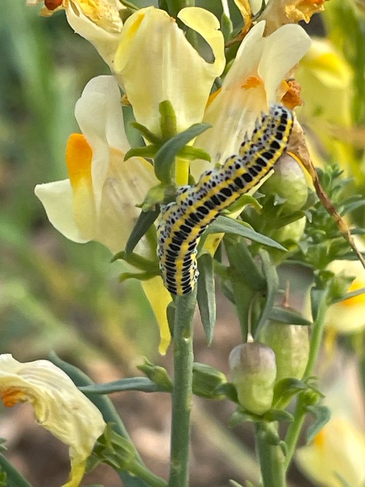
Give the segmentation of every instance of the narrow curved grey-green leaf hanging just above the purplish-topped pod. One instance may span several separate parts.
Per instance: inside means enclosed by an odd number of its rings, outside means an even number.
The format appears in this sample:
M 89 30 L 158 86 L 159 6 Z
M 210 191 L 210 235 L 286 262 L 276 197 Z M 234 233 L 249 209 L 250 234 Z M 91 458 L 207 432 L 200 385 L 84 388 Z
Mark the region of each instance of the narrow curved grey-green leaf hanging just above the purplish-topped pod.
M 261 311 L 259 321 L 254 328 L 254 332 L 253 332 L 254 339 L 259 338 L 261 330 L 265 326 L 265 323 L 268 321 L 271 312 L 273 310 L 275 298 L 279 289 L 279 277 L 276 271 L 275 264 L 271 261 L 270 256 L 266 252 L 266 250 L 262 249 L 260 251 L 260 256 L 262 260 L 264 275 L 266 277 L 266 282 L 267 282 L 267 292 L 266 292 L 266 301 Z

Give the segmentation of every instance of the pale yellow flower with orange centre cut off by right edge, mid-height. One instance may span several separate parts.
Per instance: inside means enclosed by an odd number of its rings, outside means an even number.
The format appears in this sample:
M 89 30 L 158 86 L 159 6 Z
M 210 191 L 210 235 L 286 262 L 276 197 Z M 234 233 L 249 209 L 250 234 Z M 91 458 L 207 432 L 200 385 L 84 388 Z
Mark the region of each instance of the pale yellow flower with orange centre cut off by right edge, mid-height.
M 335 261 L 328 267 L 339 273 L 345 272 L 355 279 L 349 292 L 365 287 L 365 270 L 359 261 Z M 365 294 L 332 304 L 326 311 L 325 325 L 336 333 L 354 333 L 365 327 Z

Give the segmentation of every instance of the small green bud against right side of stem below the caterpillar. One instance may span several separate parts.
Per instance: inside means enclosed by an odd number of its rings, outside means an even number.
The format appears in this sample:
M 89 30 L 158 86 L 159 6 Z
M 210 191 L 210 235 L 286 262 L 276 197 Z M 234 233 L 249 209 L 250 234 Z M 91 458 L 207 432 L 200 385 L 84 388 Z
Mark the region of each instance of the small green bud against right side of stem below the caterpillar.
M 223 372 L 209 365 L 195 362 L 193 365 L 193 393 L 208 399 L 224 399 L 224 394 L 217 394 L 216 388 L 226 384 Z

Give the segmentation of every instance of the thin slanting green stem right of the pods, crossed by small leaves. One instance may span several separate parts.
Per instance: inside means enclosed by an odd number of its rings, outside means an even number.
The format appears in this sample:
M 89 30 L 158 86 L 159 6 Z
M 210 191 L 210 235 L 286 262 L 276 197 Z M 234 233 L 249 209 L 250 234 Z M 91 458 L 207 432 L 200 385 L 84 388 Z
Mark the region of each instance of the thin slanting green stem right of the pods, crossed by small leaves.
M 310 377 L 313 373 L 314 365 L 319 353 L 320 345 L 322 342 L 323 330 L 324 330 L 324 316 L 327 309 L 327 290 L 324 290 L 319 298 L 317 317 L 313 325 L 309 357 L 307 367 L 305 369 L 303 380 Z M 295 453 L 298 439 L 302 431 L 305 415 L 306 415 L 306 402 L 305 392 L 299 394 L 296 409 L 294 412 L 294 421 L 289 425 L 286 433 L 285 443 L 287 448 L 287 454 L 285 457 L 285 469 L 290 466 L 291 459 Z

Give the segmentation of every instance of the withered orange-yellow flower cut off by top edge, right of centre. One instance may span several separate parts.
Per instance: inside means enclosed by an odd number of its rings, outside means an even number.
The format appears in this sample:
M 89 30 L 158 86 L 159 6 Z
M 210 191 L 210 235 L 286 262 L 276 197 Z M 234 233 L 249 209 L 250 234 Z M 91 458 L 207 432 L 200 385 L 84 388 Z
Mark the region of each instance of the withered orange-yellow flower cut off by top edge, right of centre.
M 324 0 L 269 0 L 259 20 L 266 20 L 266 33 L 271 33 L 281 25 L 308 23 L 313 14 L 322 12 Z

